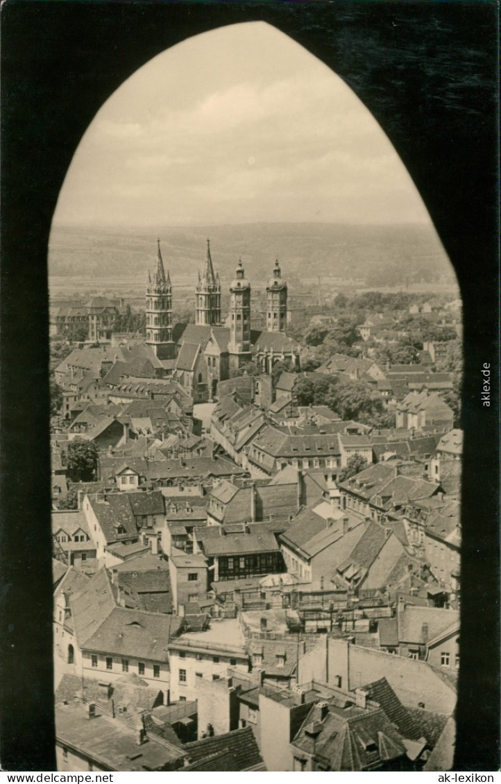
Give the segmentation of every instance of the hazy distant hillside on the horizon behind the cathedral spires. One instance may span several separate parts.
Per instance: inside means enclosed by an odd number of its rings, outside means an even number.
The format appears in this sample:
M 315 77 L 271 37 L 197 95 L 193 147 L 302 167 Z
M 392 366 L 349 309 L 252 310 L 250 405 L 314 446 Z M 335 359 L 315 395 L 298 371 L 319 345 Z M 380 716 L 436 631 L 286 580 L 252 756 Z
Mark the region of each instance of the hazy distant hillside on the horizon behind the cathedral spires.
M 118 279 L 144 274 L 154 264 L 156 238 L 172 283 L 194 280 L 210 237 L 212 260 L 230 281 L 241 256 L 251 282 L 270 276 L 275 258 L 287 278 L 351 278 L 365 285 L 454 281 L 433 227 L 342 223 L 245 223 L 145 229 L 55 227 L 49 243 L 49 275 Z

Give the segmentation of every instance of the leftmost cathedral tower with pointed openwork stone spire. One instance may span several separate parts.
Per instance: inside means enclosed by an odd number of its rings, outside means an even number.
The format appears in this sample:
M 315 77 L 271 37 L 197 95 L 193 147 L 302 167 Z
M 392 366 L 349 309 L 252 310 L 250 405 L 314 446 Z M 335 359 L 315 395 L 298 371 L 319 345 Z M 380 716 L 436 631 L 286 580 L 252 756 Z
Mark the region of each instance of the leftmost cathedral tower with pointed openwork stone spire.
M 146 343 L 158 359 L 173 359 L 176 347 L 172 341 L 172 285 L 169 270 L 165 274 L 160 240 L 153 274 L 148 272 L 146 289 Z

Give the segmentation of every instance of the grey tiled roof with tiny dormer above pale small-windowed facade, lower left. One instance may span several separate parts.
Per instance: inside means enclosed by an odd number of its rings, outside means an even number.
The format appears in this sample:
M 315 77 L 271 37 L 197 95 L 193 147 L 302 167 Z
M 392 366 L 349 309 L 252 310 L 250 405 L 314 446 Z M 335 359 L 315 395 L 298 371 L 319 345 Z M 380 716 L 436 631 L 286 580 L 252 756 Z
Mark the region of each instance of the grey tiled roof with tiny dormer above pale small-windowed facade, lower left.
M 169 660 L 167 646 L 183 626 L 176 615 L 116 607 L 82 646 L 86 651 Z

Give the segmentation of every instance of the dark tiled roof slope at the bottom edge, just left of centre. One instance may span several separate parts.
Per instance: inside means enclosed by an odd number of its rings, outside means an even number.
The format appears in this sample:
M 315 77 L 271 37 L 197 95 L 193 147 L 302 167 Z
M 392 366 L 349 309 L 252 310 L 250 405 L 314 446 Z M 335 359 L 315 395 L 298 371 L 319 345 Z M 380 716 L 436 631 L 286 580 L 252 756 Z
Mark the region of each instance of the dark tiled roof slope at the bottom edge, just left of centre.
M 263 758 L 251 727 L 186 743 L 190 764 L 181 771 L 264 771 Z

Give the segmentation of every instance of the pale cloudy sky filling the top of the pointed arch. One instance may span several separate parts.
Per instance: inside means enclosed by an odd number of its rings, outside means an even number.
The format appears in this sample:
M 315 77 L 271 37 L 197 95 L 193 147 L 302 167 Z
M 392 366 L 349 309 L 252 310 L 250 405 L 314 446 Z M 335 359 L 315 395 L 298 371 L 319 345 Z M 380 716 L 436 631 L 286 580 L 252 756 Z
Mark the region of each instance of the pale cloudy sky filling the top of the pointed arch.
M 103 105 L 54 223 L 424 223 L 379 125 L 336 74 L 263 22 L 168 49 Z

